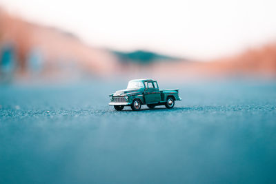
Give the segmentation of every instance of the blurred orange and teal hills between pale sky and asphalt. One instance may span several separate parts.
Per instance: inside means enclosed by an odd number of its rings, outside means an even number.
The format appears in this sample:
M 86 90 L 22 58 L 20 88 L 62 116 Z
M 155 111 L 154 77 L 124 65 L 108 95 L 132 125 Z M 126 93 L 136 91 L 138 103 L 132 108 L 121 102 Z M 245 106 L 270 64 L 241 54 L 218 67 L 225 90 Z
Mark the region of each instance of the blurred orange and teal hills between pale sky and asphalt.
M 87 45 L 70 32 L 37 25 L 0 9 L 0 81 L 74 77 L 205 79 L 276 78 L 276 43 L 213 61 Z

